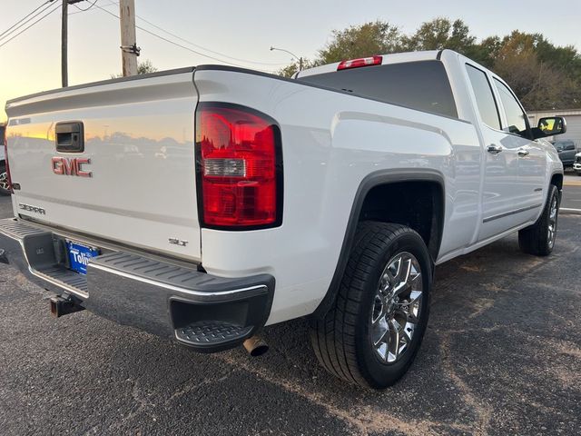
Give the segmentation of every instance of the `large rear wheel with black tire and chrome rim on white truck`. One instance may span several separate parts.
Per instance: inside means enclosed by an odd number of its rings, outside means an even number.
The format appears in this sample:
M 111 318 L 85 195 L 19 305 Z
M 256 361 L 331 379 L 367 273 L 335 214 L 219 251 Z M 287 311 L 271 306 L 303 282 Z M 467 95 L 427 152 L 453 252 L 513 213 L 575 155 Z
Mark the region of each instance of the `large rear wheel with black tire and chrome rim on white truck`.
M 311 342 L 331 374 L 384 389 L 414 361 L 429 313 L 432 263 L 409 227 L 359 223 L 340 291 Z

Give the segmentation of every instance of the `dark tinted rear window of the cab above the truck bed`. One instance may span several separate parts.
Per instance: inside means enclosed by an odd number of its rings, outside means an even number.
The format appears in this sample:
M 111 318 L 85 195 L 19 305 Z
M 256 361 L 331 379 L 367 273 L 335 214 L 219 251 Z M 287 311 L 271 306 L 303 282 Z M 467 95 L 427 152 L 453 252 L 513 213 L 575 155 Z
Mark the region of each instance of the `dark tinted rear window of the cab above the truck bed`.
M 366 66 L 299 77 L 380 102 L 457 118 L 456 103 L 444 65 L 439 61 Z

